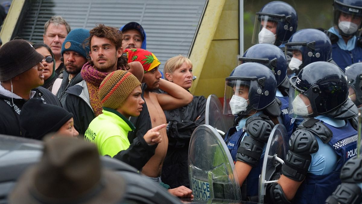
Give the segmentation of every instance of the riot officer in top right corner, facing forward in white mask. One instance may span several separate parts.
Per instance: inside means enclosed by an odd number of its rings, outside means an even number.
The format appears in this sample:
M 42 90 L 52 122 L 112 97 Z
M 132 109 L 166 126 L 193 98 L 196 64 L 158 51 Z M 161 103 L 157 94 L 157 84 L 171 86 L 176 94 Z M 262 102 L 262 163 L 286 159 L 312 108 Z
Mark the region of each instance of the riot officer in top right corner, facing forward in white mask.
M 362 47 L 356 37 L 362 26 L 362 0 L 334 0 L 333 23 L 329 28 L 334 36 L 333 60 L 344 69 L 346 66 L 362 61 Z M 334 35 L 333 35 L 334 34 Z

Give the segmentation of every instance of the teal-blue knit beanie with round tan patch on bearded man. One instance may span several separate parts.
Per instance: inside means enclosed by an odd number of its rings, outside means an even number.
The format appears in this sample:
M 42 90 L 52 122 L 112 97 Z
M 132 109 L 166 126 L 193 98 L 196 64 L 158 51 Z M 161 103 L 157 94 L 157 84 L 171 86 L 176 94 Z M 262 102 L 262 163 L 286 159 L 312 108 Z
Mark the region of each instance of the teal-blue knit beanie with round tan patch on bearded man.
M 81 54 L 84 58 L 87 59 L 87 54 L 89 53 L 89 46 L 84 46 L 86 44 L 85 39 L 90 36 L 89 30 L 83 28 L 73 29 L 68 33 L 66 39 L 62 44 L 62 51 L 60 53 L 63 56 L 63 53 L 70 50 Z

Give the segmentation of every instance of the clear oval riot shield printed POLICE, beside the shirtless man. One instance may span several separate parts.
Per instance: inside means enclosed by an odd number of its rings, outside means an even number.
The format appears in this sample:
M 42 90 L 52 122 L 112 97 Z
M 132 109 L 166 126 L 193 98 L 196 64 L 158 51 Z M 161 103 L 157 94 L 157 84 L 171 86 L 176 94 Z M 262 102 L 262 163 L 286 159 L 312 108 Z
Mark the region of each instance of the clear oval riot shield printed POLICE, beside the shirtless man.
M 189 146 L 189 180 L 197 199 L 240 200 L 234 163 L 220 134 L 209 125 L 198 126 Z

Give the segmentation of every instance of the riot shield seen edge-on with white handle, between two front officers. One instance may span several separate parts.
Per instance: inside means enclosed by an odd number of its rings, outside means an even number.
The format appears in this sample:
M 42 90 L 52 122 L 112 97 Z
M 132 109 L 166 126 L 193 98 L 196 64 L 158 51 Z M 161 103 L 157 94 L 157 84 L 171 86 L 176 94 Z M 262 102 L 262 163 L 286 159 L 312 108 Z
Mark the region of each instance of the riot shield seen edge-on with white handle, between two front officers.
M 259 203 L 264 203 L 266 185 L 275 183 L 279 177 L 287 154 L 288 134 L 284 125 L 274 126 L 266 143 L 263 166 L 259 178 Z

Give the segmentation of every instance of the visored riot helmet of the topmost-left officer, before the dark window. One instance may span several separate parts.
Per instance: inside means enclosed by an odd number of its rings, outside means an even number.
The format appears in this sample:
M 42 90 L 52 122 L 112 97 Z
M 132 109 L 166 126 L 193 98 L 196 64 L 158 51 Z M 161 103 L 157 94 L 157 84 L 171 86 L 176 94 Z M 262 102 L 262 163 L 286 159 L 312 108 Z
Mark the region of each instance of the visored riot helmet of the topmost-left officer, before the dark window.
M 274 29 L 267 29 L 267 22 L 268 27 Z M 289 40 L 297 26 L 298 16 L 295 9 L 283 1 L 272 1 L 256 13 L 252 43 L 279 46 Z

